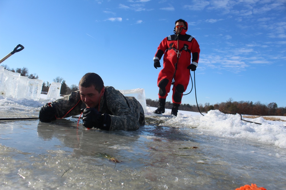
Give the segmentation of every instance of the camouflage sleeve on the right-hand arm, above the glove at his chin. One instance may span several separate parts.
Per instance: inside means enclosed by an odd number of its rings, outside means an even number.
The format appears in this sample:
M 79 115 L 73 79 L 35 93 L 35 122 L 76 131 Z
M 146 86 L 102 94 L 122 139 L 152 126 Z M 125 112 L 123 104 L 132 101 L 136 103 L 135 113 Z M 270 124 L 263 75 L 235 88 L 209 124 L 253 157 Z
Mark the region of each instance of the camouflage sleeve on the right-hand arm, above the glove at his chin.
M 127 131 L 137 130 L 139 128 L 139 115 L 134 113 L 136 108 L 133 108 L 132 105 L 129 105 L 124 95 L 122 95 L 119 91 L 115 90 L 112 93 L 109 93 L 106 96 L 106 104 L 112 113 L 110 115 L 110 130 Z

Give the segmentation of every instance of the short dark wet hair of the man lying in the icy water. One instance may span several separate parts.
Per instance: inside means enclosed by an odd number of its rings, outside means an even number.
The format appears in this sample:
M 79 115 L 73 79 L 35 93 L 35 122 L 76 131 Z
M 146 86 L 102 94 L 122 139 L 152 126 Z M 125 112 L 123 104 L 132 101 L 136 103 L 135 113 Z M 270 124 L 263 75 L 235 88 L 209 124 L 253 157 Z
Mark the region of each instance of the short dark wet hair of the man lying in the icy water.
M 81 79 L 78 84 L 79 86 L 88 88 L 94 86 L 99 93 L 104 87 L 104 83 L 102 78 L 96 73 L 86 73 Z

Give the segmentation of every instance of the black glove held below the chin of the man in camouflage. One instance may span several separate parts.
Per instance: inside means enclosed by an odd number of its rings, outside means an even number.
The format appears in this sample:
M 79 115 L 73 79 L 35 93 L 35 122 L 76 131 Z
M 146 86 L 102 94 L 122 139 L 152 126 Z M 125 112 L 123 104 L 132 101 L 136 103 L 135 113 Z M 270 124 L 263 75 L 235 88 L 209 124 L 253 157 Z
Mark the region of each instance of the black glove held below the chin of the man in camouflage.
M 99 128 L 102 130 L 109 130 L 111 124 L 110 115 L 99 113 L 95 108 L 86 108 L 83 111 L 83 125 L 86 128 Z

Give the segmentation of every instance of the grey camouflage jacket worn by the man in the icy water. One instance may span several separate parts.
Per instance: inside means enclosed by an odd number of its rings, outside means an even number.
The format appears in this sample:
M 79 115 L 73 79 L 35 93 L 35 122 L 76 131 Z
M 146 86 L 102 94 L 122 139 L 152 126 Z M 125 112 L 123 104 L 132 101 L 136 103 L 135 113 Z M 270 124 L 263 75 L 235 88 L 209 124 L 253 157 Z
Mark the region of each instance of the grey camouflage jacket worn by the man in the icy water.
M 52 104 L 56 108 L 57 118 L 80 115 L 81 109 L 86 108 L 80 99 L 79 90 L 53 101 Z M 145 124 L 142 105 L 134 97 L 125 97 L 112 86 L 105 87 L 104 95 L 99 102 L 99 112 L 110 115 L 109 130 L 137 130 L 140 125 Z

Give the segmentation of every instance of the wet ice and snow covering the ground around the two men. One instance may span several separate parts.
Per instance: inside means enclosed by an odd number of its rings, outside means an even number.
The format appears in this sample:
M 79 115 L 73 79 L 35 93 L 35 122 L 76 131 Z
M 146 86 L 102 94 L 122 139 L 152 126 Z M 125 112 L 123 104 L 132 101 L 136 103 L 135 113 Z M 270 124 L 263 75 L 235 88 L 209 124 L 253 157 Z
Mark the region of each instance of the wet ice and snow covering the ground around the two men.
M 0 95 L 0 116 L 37 117 L 40 107 L 52 101 L 46 98 Z M 129 132 L 86 130 L 72 117 L 51 123 L 0 121 L 1 189 L 286 186 L 286 122 L 247 119 L 258 125 L 217 110 L 204 116 L 179 111 L 170 117 L 170 110 L 156 115 L 154 109 L 146 107 L 145 116 L 158 120 L 156 124 Z

